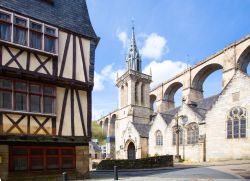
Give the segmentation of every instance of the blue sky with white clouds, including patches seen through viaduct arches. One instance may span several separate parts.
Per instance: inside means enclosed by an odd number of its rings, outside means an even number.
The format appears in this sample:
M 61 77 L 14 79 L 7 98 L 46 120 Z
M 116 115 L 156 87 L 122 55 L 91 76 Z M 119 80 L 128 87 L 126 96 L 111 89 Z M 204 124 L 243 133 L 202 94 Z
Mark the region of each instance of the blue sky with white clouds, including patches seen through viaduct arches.
M 117 108 L 116 72 L 125 55 L 135 20 L 143 70 L 152 68 L 153 85 L 167 80 L 226 45 L 250 34 L 249 0 L 87 0 L 101 41 L 96 49 L 93 119 Z M 221 90 L 221 71 L 204 83 L 205 96 Z M 176 94 L 180 100 L 181 91 Z

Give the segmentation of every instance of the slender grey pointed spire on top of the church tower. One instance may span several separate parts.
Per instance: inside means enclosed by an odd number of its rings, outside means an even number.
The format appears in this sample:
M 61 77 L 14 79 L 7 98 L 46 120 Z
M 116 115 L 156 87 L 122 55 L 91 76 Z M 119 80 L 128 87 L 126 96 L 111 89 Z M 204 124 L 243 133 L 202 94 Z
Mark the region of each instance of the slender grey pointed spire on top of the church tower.
M 130 46 L 129 46 L 126 62 L 127 62 L 128 70 L 132 69 L 132 70 L 141 72 L 141 57 L 136 46 L 134 25 L 132 26 L 132 37 L 130 40 Z

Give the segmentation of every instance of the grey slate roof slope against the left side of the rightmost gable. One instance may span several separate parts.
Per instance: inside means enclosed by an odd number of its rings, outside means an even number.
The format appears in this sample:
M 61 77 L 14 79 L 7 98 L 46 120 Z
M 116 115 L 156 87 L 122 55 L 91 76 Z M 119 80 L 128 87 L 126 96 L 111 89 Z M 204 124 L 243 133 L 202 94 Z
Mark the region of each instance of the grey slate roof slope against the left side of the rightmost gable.
M 208 110 L 212 108 L 212 105 L 217 101 L 219 95 L 211 96 L 205 99 L 201 99 L 196 102 L 196 105 L 189 105 L 189 107 L 199 114 L 202 119 L 205 119 L 205 115 Z

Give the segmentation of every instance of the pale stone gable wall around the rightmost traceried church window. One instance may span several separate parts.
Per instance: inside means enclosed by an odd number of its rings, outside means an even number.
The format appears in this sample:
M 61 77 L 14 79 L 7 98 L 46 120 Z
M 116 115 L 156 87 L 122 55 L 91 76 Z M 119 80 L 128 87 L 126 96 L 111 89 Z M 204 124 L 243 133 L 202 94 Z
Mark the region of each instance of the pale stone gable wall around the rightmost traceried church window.
M 250 78 L 238 71 L 222 92 L 213 108 L 207 113 L 207 161 L 250 159 Z M 235 97 L 237 95 L 237 97 Z M 233 107 L 246 109 L 246 137 L 227 138 L 227 119 Z

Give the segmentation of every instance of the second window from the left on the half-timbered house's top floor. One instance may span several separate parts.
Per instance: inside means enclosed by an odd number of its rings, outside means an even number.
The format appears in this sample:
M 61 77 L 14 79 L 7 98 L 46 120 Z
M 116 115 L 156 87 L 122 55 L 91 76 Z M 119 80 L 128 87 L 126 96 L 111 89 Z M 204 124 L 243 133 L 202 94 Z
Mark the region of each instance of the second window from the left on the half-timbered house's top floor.
M 27 45 L 27 20 L 14 17 L 14 43 Z

